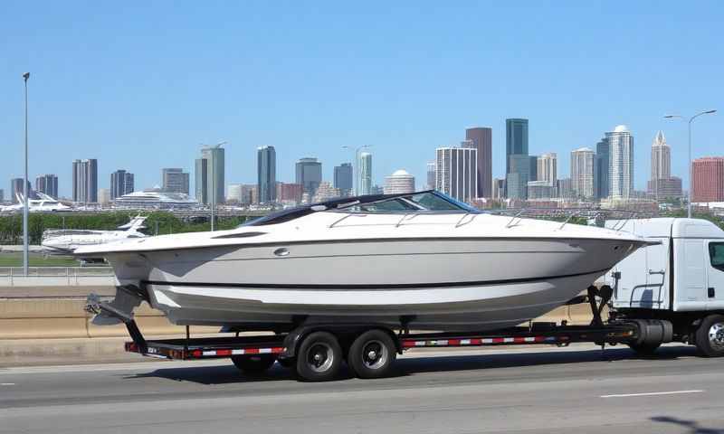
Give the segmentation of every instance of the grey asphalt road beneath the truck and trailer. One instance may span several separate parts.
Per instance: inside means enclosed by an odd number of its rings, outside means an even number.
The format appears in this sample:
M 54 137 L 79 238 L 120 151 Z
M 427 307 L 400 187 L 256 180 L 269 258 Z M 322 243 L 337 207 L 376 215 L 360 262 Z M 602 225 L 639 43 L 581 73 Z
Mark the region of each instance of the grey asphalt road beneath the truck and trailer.
M 393 378 L 304 383 L 225 361 L 0 370 L 0 433 L 724 433 L 724 359 L 667 347 L 405 354 Z

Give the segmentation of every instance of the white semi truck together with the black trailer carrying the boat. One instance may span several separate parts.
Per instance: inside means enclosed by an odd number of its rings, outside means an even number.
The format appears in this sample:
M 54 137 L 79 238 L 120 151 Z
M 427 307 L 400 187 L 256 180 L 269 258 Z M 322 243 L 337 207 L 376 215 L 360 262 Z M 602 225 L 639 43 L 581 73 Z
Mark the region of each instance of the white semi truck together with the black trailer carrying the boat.
M 134 321 L 99 297 L 87 309 L 117 316 L 132 341 L 129 352 L 180 360 L 231 358 L 244 373 L 258 375 L 274 363 L 292 369 L 304 381 L 337 377 L 341 360 L 360 378 L 388 375 L 397 354 L 423 347 L 475 347 L 520 344 L 627 344 L 653 356 L 661 344 L 694 344 L 700 354 L 724 355 L 724 231 L 698 219 L 609 221 L 605 225 L 631 231 L 650 245 L 634 252 L 568 304 L 586 303 L 588 325 L 530 322 L 484 333 L 414 333 L 376 324 L 316 323 L 275 335 L 147 340 Z M 604 319 L 605 309 L 608 316 Z M 228 330 L 225 330 L 228 331 Z M 357 348 L 359 342 L 375 345 Z M 313 351 L 319 343 L 338 343 L 334 363 Z

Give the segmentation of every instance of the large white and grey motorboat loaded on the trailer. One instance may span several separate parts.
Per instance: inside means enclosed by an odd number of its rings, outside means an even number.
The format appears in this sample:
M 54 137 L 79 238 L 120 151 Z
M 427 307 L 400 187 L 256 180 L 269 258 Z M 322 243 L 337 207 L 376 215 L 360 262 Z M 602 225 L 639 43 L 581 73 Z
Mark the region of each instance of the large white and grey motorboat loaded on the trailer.
M 339 199 L 231 231 L 76 253 L 110 262 L 126 289 L 113 306 L 127 316 L 147 299 L 178 325 L 283 331 L 359 321 L 484 331 L 566 303 L 644 244 L 620 231 L 481 213 L 428 191 Z

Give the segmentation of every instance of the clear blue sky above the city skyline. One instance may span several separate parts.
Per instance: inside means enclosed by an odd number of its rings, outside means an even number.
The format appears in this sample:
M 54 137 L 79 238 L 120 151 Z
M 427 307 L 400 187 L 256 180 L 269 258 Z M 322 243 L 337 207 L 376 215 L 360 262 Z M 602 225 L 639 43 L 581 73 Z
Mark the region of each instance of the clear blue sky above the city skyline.
M 100 187 L 125 168 L 192 172 L 200 143 L 228 140 L 227 183 L 255 182 L 257 146 L 277 174 L 318 156 L 324 177 L 371 145 L 377 183 L 405 168 L 424 184 L 434 148 L 529 118 L 531 154 L 595 146 L 628 125 L 635 185 L 662 129 L 685 179 L 686 125 L 666 113 L 724 110 L 724 3 L 0 3 L 0 188 L 23 174 L 23 80 L 31 71 L 30 175 L 71 193 L 71 160 L 98 158 Z M 724 155 L 724 112 L 700 118 L 694 155 Z M 193 180 L 192 180 L 193 185 Z M 192 187 L 193 188 L 193 187 Z

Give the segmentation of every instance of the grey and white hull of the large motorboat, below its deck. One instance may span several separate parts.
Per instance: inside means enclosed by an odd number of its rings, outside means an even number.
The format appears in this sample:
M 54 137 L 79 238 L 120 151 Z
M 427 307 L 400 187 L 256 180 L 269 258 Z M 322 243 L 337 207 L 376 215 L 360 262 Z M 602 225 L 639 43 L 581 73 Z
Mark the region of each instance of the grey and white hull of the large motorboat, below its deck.
M 364 321 L 431 330 L 517 325 L 575 297 L 637 241 L 468 239 L 308 242 L 111 259 L 179 325 L 281 329 Z

